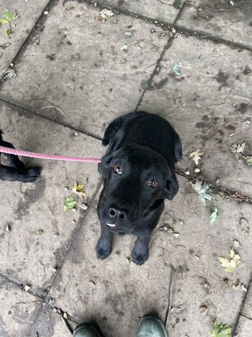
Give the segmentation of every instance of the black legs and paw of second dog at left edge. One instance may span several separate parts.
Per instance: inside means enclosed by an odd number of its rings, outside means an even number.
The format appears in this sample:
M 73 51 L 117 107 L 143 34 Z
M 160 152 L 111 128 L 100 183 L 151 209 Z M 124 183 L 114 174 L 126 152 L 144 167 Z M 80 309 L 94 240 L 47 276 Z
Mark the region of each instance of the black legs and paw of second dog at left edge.
M 15 149 L 14 146 L 4 141 L 0 130 L 0 146 Z M 5 154 L 7 166 L 1 163 L 2 153 L 0 152 L 0 178 L 11 181 L 34 182 L 40 176 L 40 168 L 25 167 L 25 164 L 16 155 Z

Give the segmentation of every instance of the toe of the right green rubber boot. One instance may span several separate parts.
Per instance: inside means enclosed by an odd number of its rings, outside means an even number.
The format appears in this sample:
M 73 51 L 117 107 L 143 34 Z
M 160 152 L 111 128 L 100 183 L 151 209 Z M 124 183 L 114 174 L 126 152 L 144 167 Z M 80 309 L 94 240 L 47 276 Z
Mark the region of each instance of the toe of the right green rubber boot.
M 168 337 L 168 334 L 159 318 L 146 315 L 138 324 L 136 337 Z

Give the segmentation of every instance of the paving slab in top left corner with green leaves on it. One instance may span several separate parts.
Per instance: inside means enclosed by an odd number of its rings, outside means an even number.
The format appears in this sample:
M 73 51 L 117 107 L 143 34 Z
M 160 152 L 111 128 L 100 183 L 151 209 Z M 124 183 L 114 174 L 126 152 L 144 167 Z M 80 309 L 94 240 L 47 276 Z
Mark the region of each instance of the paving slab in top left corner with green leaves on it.
M 4 16 L 4 10 L 7 8 L 12 12 L 18 13 L 18 20 L 11 23 L 12 34 L 9 37 L 5 30 L 9 25 L 0 26 L 0 45 L 9 45 L 5 49 L 0 47 L 0 79 L 3 77 L 4 70 L 10 67 L 10 63 L 22 47 L 23 43 L 29 36 L 37 19 L 43 13 L 48 0 L 18 0 L 11 4 L 10 0 L 2 0 L 0 4 L 0 17 Z M 46 19 L 46 16 L 44 17 Z

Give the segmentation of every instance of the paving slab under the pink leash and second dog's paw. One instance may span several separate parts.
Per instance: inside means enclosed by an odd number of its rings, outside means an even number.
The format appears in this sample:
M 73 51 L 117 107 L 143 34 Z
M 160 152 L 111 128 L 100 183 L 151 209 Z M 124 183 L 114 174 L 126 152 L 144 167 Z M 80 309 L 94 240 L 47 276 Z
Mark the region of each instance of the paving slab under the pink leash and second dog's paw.
M 100 141 L 30 113 L 0 103 L 4 139 L 17 149 L 47 154 L 100 157 Z M 34 183 L 1 181 L 0 272 L 44 296 L 60 267 L 75 228 L 86 211 L 72 186 L 82 179 L 90 204 L 99 182 L 97 164 L 24 159 L 42 167 Z M 65 190 L 68 186 L 69 190 Z M 77 211 L 65 214 L 65 197 L 78 201 Z M 78 200 L 79 199 L 79 200 Z M 10 226 L 10 231 L 6 227 Z M 40 232 L 42 231 L 42 232 Z

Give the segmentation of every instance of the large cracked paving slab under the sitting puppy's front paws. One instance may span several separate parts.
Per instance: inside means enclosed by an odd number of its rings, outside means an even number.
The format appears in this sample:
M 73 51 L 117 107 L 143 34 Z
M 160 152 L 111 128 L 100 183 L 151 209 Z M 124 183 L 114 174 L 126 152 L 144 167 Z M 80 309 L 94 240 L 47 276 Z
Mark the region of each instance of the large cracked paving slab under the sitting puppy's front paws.
M 96 259 L 100 225 L 95 209 L 88 213 L 51 288 L 56 306 L 78 320 L 96 319 L 107 336 L 134 336 L 139 317 L 148 312 L 164 319 L 169 300 L 171 336 L 206 336 L 215 317 L 234 324 L 244 293 L 233 290 L 232 284 L 240 279 L 247 286 L 252 267 L 250 229 L 244 230 L 239 219 L 246 217 L 251 227 L 252 207 L 223 203 L 218 222 L 210 225 L 211 204 L 203 206 L 188 180 L 178 179 L 180 192 L 167 202 L 160 225 L 172 227 L 179 236 L 157 227 L 150 257 L 141 267 L 131 261 L 133 236 L 115 236 L 111 255 Z M 244 267 L 230 274 L 217 257 L 228 257 L 234 239 L 240 243 L 237 251 Z M 171 266 L 175 275 L 169 299 Z M 208 307 L 206 315 L 202 305 Z

